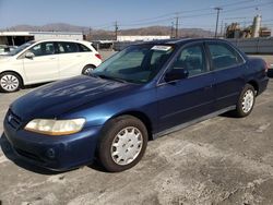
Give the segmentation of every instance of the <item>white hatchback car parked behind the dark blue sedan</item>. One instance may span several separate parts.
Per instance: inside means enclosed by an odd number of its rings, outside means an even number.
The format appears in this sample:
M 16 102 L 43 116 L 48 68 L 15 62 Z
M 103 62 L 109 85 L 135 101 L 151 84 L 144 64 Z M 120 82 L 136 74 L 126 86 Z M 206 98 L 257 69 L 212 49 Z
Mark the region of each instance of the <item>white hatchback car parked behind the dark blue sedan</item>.
M 28 41 L 0 57 L 0 91 L 88 74 L 102 63 L 92 43 L 50 39 Z

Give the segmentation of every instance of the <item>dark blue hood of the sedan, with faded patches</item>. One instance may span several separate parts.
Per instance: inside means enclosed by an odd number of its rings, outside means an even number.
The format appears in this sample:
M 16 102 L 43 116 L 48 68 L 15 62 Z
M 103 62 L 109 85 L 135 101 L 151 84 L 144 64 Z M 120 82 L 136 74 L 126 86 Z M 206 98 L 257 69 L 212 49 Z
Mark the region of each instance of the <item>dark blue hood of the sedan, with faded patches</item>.
M 103 97 L 112 99 L 136 86 L 82 75 L 37 88 L 15 100 L 11 110 L 23 120 L 52 119 L 85 104 L 96 105 Z

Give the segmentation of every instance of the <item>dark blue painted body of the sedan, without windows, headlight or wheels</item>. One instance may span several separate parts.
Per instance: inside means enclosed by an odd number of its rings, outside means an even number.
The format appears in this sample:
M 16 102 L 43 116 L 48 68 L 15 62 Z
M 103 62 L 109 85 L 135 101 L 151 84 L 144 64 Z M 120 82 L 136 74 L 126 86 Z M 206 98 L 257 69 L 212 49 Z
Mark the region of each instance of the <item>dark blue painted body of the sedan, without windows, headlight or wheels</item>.
M 122 113 L 140 113 L 156 135 L 181 123 L 235 106 L 242 87 L 252 82 L 261 94 L 268 85 L 263 61 L 244 58 L 235 68 L 214 71 L 207 57 L 209 72 L 166 83 L 165 72 L 179 49 L 212 39 L 162 40 L 145 44 L 176 46 L 175 53 L 158 74 L 145 84 L 76 76 L 37 88 L 15 100 L 4 119 L 4 134 L 24 159 L 52 170 L 67 170 L 93 161 L 104 124 Z M 236 48 L 235 48 L 236 49 Z M 206 50 L 207 52 L 207 50 Z M 33 119 L 84 118 L 76 134 L 48 136 L 24 130 Z

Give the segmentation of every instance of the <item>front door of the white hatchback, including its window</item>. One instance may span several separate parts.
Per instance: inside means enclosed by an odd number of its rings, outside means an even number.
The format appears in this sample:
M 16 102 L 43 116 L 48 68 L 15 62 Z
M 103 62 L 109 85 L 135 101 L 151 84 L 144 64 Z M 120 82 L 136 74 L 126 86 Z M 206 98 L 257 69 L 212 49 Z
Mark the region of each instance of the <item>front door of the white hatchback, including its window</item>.
M 56 55 L 52 41 L 37 44 L 28 51 L 35 55 L 32 59 L 23 59 L 28 83 L 48 82 L 59 79 L 58 55 Z

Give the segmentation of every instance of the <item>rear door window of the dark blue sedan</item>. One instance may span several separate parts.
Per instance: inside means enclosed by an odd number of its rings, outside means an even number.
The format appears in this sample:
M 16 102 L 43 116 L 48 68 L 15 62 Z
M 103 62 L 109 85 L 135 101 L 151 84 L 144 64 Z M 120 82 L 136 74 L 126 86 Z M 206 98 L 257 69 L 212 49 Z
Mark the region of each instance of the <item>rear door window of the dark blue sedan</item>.
M 244 62 L 240 55 L 229 45 L 209 44 L 214 70 L 235 67 Z

